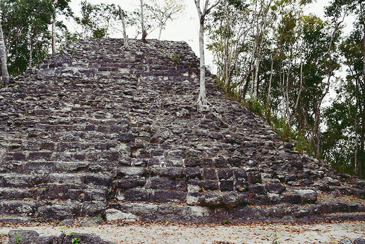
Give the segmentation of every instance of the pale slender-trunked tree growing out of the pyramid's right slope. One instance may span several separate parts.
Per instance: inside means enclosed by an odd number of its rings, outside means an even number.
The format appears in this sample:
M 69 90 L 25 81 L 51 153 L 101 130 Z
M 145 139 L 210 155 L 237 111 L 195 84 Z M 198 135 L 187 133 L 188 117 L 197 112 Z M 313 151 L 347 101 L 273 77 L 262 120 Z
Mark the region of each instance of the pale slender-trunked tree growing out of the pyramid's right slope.
M 210 10 L 214 7 L 216 7 L 221 0 L 218 0 L 215 4 L 208 7 L 209 0 L 205 1 L 205 4 L 203 6 L 203 10 L 200 8 L 200 0 L 194 0 L 194 3 L 196 5 L 196 9 L 198 11 L 198 17 L 199 17 L 199 53 L 200 53 L 200 89 L 199 89 L 199 97 L 197 104 L 198 106 L 201 105 L 208 105 L 209 102 L 206 99 L 206 88 L 205 88 L 205 57 L 204 57 L 204 21 L 205 16 L 210 12 Z

